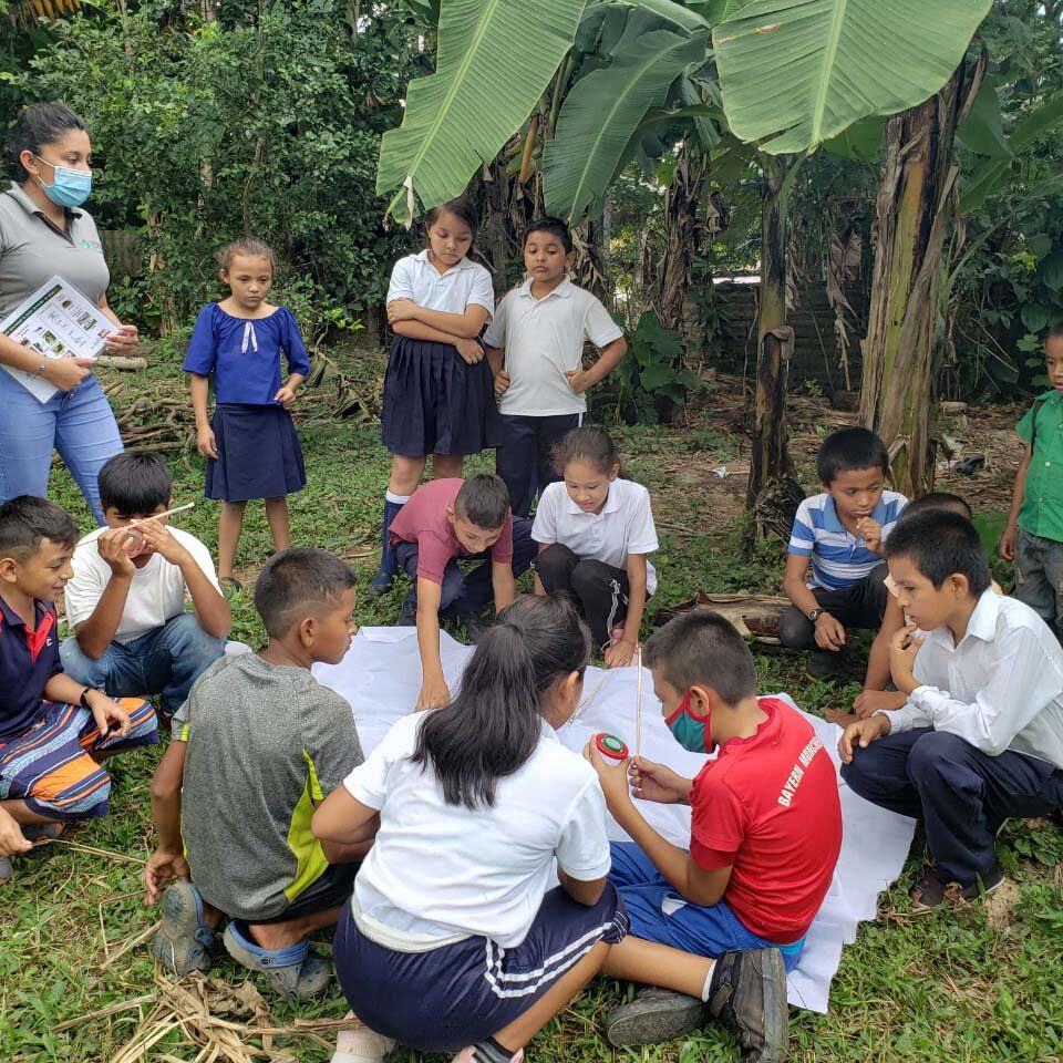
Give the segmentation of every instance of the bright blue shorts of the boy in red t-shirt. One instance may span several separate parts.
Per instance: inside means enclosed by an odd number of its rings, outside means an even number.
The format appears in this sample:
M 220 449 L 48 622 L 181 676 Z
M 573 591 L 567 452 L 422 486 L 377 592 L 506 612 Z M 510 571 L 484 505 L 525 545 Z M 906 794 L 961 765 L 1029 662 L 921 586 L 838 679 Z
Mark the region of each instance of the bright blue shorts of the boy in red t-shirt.
M 610 842 L 609 850 L 609 881 L 628 909 L 632 937 L 712 959 L 735 950 L 778 949 L 787 971 L 797 966 L 804 938 L 778 945 L 746 929 L 724 900 L 711 907 L 689 904 L 632 842 Z

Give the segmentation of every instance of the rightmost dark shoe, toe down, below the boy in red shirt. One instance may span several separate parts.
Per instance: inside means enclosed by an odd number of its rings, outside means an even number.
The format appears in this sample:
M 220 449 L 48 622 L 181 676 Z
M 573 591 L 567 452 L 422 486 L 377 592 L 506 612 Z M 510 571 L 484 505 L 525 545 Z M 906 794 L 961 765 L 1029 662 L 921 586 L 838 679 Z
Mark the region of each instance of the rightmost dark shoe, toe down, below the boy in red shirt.
M 783 953 L 724 952 L 712 969 L 709 1013 L 737 1036 L 743 1063 L 783 1063 L 789 1044 Z

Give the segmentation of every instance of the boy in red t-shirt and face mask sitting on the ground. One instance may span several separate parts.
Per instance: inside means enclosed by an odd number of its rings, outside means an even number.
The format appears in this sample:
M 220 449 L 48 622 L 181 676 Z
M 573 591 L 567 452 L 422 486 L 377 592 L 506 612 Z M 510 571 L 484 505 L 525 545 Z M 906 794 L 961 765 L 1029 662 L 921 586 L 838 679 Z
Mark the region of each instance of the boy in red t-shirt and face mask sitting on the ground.
M 642 757 L 608 765 L 588 746 L 617 823 L 609 878 L 631 932 L 603 973 L 650 990 L 607 1019 L 613 1044 L 679 1036 L 702 1002 L 737 1031 L 743 1059 L 786 1054 L 785 970 L 830 886 L 842 848 L 834 764 L 786 702 L 756 696 L 745 640 L 719 613 L 695 610 L 647 643 L 665 723 L 692 752 L 719 755 L 693 780 Z M 690 850 L 662 838 L 631 801 L 691 806 Z M 683 995 L 688 994 L 688 995 Z

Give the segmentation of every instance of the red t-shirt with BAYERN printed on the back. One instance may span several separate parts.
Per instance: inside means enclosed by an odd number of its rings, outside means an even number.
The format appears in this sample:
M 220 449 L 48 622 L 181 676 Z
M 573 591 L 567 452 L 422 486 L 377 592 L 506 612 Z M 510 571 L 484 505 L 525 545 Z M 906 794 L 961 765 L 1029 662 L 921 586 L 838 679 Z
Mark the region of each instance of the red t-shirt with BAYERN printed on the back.
M 732 866 L 723 899 L 746 929 L 798 940 L 830 886 L 842 850 L 842 805 L 830 756 L 801 713 L 761 698 L 767 720 L 731 739 L 694 778 L 690 855 Z

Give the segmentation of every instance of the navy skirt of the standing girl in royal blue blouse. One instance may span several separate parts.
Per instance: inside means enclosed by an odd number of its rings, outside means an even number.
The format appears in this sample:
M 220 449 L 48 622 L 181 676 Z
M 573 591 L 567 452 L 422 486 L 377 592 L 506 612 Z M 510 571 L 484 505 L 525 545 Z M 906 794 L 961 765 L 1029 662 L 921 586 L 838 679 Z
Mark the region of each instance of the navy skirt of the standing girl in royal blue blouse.
M 283 406 L 219 403 L 211 426 L 218 457 L 207 460 L 207 498 L 282 498 L 306 487 L 302 447 Z

